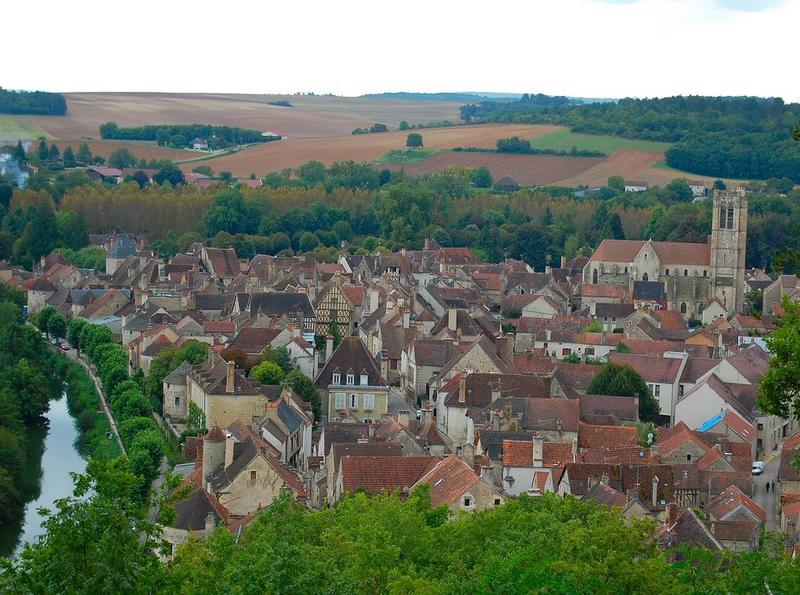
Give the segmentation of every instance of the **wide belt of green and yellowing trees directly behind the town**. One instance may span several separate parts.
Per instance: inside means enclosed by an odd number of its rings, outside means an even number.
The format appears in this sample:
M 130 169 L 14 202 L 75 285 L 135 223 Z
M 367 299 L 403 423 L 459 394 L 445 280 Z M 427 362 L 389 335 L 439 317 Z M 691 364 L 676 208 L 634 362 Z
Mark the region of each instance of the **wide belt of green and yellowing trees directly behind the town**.
M 165 257 L 206 240 L 235 247 L 241 258 L 303 252 L 325 261 L 342 246 L 353 253 L 415 249 L 433 237 L 469 246 L 489 262 L 522 258 L 543 271 L 561 256 L 590 255 L 605 238 L 705 242 L 711 231 L 711 201 L 692 202 L 685 180 L 630 193 L 621 178 L 610 178 L 579 197 L 555 187 L 494 192 L 491 180 L 478 181 L 486 173 L 453 168 L 411 178 L 368 163 L 310 162 L 268 175 L 262 188 L 221 181 L 202 190 L 168 182 L 108 186 L 73 174 L 47 185 L 32 176 L 36 190 L 14 190 L 0 203 L 0 260 L 31 266 L 53 249 L 84 249 L 89 233 L 125 230 L 147 237 Z M 751 185 L 747 266 L 773 270 L 776 255 L 800 250 L 800 192 L 791 188 L 785 179 Z M 784 270 L 794 271 L 792 262 Z

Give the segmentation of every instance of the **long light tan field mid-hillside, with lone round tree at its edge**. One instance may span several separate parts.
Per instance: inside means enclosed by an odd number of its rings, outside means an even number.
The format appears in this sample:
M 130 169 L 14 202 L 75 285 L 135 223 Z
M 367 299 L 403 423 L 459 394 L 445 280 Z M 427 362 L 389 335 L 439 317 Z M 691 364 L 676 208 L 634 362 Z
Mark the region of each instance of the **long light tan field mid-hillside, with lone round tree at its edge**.
M 499 138 L 515 135 L 531 138 L 557 129 L 556 126 L 487 124 L 430 128 L 417 132 L 422 134 L 425 149 L 450 149 L 458 146 L 493 148 Z M 289 138 L 280 142 L 248 147 L 233 155 L 206 160 L 203 164 L 211 166 L 215 171 L 230 171 L 235 176 L 248 176 L 251 173 L 263 176 L 285 168 L 297 168 L 312 159 L 327 165 L 347 159 L 375 161 L 392 149 L 404 148 L 407 135 L 408 131 L 348 134 L 326 138 Z M 182 167 L 185 171 L 191 171 L 193 165 L 184 164 Z

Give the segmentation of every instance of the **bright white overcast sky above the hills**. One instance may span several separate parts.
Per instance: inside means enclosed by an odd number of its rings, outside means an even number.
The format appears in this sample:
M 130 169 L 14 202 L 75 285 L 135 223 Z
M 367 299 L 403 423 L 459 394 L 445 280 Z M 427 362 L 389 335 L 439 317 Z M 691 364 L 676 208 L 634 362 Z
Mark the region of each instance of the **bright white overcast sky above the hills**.
M 4 3 L 2 87 L 800 101 L 800 0 L 39 0 L 35 6 Z M 8 59 L 10 48 L 19 48 L 17 59 Z

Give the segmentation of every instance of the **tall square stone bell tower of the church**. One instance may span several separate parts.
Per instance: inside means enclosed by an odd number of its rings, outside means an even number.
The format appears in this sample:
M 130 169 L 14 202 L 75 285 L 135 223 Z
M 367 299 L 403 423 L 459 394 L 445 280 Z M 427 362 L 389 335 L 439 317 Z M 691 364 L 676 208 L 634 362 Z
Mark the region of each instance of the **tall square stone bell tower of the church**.
M 711 282 L 713 295 L 729 310 L 744 307 L 747 196 L 744 188 L 714 190 L 711 223 Z

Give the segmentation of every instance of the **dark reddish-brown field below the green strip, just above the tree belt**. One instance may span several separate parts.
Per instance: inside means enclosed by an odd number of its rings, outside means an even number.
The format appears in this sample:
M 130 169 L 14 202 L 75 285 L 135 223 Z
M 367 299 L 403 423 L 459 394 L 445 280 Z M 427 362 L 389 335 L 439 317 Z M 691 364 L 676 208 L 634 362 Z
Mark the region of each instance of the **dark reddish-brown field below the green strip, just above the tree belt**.
M 473 153 L 440 151 L 416 164 L 386 164 L 388 169 L 400 169 L 409 174 L 430 174 L 446 167 L 476 168 L 485 166 L 495 180 L 513 176 L 526 186 L 549 186 L 564 178 L 579 176 L 602 163 L 587 157 L 556 157 L 552 155 L 520 155 L 509 153 Z

